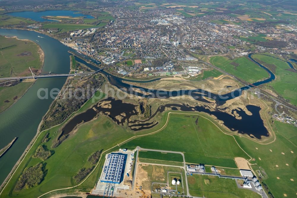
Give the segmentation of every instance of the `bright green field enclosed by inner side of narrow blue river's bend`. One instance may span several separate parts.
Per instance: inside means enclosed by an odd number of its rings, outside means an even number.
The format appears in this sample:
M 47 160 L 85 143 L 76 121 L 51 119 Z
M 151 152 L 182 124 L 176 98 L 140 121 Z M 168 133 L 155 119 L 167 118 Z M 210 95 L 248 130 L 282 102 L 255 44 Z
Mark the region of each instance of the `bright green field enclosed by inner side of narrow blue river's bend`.
M 268 78 L 268 73 L 246 57 L 229 60 L 223 56 L 213 56 L 210 61 L 216 67 L 249 83 Z

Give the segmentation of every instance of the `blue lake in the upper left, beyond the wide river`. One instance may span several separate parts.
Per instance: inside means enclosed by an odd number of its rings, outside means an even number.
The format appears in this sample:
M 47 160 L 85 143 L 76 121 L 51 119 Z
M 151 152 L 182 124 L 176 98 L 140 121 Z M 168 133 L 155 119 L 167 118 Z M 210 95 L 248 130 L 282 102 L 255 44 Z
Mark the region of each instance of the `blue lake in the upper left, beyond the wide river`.
M 73 10 L 45 10 L 40 12 L 34 12 L 34 11 L 23 11 L 23 12 L 10 12 L 8 15 L 15 16 L 15 17 L 22 17 L 22 18 L 29 18 L 34 21 L 51 21 L 54 20 L 45 19 L 42 18 L 43 16 L 69 16 L 69 17 L 81 17 L 92 19 L 91 15 L 84 15 L 82 13 L 78 13 L 78 11 Z

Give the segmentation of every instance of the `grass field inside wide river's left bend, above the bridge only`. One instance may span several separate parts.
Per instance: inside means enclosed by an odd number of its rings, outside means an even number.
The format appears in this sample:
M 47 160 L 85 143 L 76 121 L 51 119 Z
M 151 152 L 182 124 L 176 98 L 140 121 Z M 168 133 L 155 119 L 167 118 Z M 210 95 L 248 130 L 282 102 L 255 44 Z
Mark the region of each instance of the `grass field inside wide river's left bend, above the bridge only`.
M 0 77 L 31 76 L 29 67 L 40 70 L 42 60 L 38 45 L 28 40 L 6 38 L 0 36 L 0 48 L 16 45 L 0 50 Z M 36 72 L 35 72 L 36 73 Z

